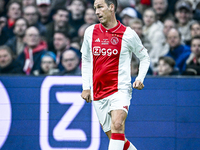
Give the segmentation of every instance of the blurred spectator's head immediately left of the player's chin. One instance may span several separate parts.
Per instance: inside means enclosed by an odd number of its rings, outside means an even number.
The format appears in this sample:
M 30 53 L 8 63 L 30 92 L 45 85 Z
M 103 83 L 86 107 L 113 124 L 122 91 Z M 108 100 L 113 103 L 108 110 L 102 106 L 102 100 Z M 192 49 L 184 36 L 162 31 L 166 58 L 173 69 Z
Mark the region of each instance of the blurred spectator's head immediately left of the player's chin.
M 89 7 L 85 11 L 85 16 L 84 16 L 84 21 L 85 23 L 92 25 L 98 22 L 97 16 L 95 14 L 94 8 Z

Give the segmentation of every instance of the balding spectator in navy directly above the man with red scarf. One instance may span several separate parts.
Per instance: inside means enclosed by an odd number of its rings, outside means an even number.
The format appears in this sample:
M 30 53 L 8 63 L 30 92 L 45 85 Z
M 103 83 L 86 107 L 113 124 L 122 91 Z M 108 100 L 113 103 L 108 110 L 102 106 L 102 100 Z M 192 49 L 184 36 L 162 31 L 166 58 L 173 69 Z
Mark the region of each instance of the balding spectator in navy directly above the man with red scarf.
M 29 26 L 35 26 L 39 30 L 40 35 L 45 35 L 46 28 L 38 21 L 38 11 L 35 6 L 26 6 L 24 8 L 24 18 L 27 20 Z

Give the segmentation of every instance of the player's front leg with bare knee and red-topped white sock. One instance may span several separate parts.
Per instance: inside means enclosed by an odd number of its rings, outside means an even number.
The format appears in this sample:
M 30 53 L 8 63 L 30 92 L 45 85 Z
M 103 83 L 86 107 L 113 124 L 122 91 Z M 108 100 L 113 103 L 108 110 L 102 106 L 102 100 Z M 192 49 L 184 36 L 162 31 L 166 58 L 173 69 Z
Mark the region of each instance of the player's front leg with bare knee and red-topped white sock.
M 108 150 L 123 150 L 125 135 L 125 120 L 127 113 L 124 110 L 111 111 L 111 138 Z

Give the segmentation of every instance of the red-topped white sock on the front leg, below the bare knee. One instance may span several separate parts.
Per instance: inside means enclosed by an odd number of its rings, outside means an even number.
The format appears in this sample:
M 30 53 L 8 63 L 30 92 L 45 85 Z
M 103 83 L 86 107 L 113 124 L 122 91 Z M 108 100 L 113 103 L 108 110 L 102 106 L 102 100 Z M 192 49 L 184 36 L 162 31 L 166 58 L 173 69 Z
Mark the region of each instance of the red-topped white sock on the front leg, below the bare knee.
M 108 150 L 123 150 L 125 135 L 122 133 L 112 133 Z

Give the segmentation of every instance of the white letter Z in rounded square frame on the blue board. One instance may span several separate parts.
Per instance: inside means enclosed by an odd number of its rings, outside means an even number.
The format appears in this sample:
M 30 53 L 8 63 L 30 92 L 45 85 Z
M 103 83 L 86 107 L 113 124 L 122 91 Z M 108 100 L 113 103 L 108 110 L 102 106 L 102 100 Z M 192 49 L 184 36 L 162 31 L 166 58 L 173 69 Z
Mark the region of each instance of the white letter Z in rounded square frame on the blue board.
M 41 86 L 40 98 L 40 147 L 42 150 L 98 150 L 100 147 L 100 125 L 95 114 L 94 107 L 91 107 L 91 135 L 86 135 L 82 129 L 70 129 L 69 125 L 76 118 L 77 114 L 85 105 L 81 98 L 81 91 L 77 92 L 56 92 L 55 96 L 60 104 L 71 104 L 65 114 L 58 121 L 53 129 L 53 138 L 55 141 L 87 141 L 91 137 L 88 147 L 53 147 L 49 142 L 49 100 L 50 90 L 53 86 L 82 85 L 81 77 L 46 77 Z M 48 113 L 49 112 L 49 113 Z

